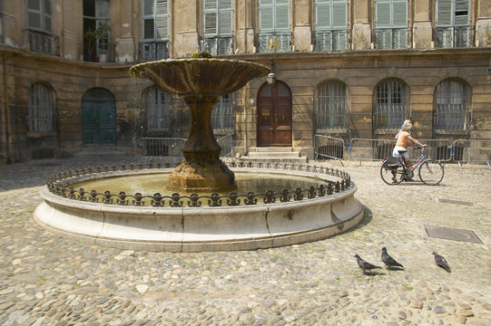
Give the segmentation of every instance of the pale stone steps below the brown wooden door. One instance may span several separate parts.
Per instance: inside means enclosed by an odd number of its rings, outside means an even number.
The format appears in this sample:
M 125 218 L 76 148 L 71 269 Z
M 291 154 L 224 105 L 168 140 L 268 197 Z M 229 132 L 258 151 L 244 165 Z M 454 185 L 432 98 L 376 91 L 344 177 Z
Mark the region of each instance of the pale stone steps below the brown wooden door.
M 288 162 L 288 163 L 307 163 L 307 156 L 302 156 L 298 151 L 293 151 L 289 147 L 252 147 L 242 160 L 254 162 Z

